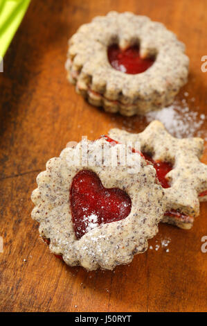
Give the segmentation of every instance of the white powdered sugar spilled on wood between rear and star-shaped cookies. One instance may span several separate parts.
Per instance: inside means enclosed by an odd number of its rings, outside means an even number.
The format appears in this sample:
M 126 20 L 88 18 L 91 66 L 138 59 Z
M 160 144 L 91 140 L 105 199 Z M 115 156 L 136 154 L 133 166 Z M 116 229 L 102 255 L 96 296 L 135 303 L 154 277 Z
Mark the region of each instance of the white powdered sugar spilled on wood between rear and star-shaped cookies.
M 188 96 L 187 92 L 184 95 Z M 190 101 L 194 102 L 195 98 L 191 98 Z M 205 122 L 205 114 L 199 114 L 199 112 L 190 109 L 186 98 L 183 98 L 181 102 L 175 101 L 168 108 L 148 112 L 146 119 L 147 123 L 153 120 L 161 121 L 168 132 L 174 137 L 206 136 L 205 140 L 207 140 L 207 135 L 202 135 L 201 130 L 199 130 Z

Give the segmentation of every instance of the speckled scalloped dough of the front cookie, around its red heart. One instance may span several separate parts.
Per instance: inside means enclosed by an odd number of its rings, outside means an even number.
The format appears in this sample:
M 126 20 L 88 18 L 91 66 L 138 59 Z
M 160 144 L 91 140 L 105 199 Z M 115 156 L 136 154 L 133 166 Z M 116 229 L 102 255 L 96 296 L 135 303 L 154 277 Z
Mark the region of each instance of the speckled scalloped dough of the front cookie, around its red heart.
M 82 144 L 78 143 L 75 148 L 82 151 Z M 111 148 L 104 138 L 87 141 L 87 144 L 88 157 L 99 151 L 100 144 Z M 120 145 L 114 148 L 116 146 Z M 135 164 L 135 173 L 128 173 L 126 166 L 107 166 L 105 157 L 102 166 L 71 166 L 69 162 L 77 153 L 75 148 L 65 148 L 60 157 L 49 160 L 46 171 L 37 176 L 32 217 L 39 222 L 39 233 L 50 239 L 51 252 L 62 255 L 70 266 L 80 265 L 92 271 L 98 267 L 111 270 L 116 265 L 129 264 L 134 255 L 147 250 L 147 239 L 154 237 L 165 212 L 163 189 L 156 180 L 156 172 L 141 155 L 130 149 L 127 151 L 133 162 L 140 162 L 140 167 Z M 132 209 L 126 218 L 101 224 L 77 239 L 69 192 L 73 177 L 82 169 L 97 173 L 106 188 L 123 189 L 132 200 Z

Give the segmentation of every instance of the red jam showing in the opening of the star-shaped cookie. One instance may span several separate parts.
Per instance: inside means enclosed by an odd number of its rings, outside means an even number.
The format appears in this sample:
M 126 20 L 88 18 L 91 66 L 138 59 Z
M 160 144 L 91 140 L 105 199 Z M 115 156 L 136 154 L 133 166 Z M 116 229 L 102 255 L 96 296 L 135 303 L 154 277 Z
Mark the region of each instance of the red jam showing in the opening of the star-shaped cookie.
M 172 164 L 168 162 L 155 162 L 150 154 L 143 153 L 143 155 L 145 156 L 145 160 L 152 162 L 154 169 L 156 169 L 156 175 L 161 186 L 163 188 L 169 188 L 170 185 L 168 180 L 165 178 L 165 175 L 172 170 Z

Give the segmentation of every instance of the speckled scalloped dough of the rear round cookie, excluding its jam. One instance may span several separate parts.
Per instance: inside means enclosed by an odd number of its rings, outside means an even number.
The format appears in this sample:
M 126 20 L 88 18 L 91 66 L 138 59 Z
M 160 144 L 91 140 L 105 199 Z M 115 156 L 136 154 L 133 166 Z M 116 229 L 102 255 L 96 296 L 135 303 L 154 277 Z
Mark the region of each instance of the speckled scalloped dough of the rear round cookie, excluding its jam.
M 141 74 L 112 68 L 107 49 L 139 44 L 141 58 L 154 55 L 152 67 Z M 109 12 L 80 26 L 69 40 L 67 78 L 78 94 L 107 112 L 145 114 L 172 103 L 188 80 L 185 46 L 159 22 L 132 12 Z

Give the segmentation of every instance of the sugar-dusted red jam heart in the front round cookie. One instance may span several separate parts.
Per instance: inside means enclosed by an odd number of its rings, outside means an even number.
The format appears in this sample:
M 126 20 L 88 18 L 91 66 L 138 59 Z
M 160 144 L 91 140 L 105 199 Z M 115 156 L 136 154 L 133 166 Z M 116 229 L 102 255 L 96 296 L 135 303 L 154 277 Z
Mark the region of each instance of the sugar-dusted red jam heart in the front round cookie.
M 105 188 L 98 175 L 89 170 L 82 170 L 73 178 L 70 200 L 78 239 L 102 223 L 126 218 L 132 208 L 131 199 L 125 191 Z

